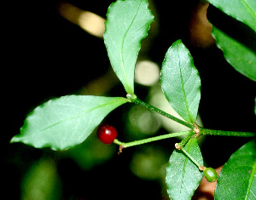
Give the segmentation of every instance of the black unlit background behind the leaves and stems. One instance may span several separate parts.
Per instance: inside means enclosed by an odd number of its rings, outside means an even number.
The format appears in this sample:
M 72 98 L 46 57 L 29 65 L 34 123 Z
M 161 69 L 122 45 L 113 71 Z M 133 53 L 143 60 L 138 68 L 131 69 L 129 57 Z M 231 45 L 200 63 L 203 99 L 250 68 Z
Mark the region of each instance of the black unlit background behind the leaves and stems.
M 70 0 L 68 3 L 105 17 L 113 1 Z M 101 38 L 91 36 L 58 13 L 59 1 L 19 2 L 9 5 L 7 36 L 3 38 L 3 185 L 9 199 L 20 198 L 20 182 L 33 161 L 44 150 L 22 144 L 9 144 L 19 134 L 26 115 L 46 100 L 73 94 L 96 77 L 108 71 L 107 51 Z M 200 1 L 154 1 L 158 14 L 157 35 L 148 49 L 151 60 L 161 65 L 166 50 L 179 39 L 187 45 L 201 76 L 201 114 L 204 127 L 236 131 L 255 130 L 255 83 L 235 71 L 224 60 L 214 43 L 197 46 L 191 40 L 191 19 Z M 225 21 L 218 10 L 209 8 L 209 19 Z M 220 19 L 221 18 L 221 19 Z M 193 27 L 193 23 L 192 23 Z M 136 85 L 137 95 L 145 98 L 147 87 Z M 110 94 L 125 95 L 117 84 Z M 125 109 L 124 109 L 125 110 Z M 111 122 L 119 120 L 112 116 Z M 116 117 L 116 118 L 114 118 Z M 118 123 L 119 124 L 119 123 Z M 122 126 L 122 124 L 117 126 Z M 121 129 L 121 128 L 120 128 Z M 207 137 L 201 146 L 203 157 L 213 167 L 224 164 L 231 153 L 249 139 Z M 175 141 L 164 141 L 173 146 Z M 170 147 L 170 155 L 172 153 Z M 128 150 L 127 150 L 128 151 Z M 63 199 L 116 199 L 122 194 L 127 199 L 160 199 L 160 185 L 154 181 L 139 180 L 128 169 L 130 157 L 136 149 L 124 156 L 114 155 L 90 172 L 84 172 L 72 159 L 59 159 L 58 173 L 62 181 Z M 46 151 L 48 152 L 48 151 Z M 46 153 L 47 154 L 47 153 Z M 49 152 L 51 155 L 51 153 Z M 118 157 L 118 159 L 116 159 Z M 122 174 L 122 178 L 119 178 Z M 101 179 L 99 180 L 99 177 Z M 84 191 L 84 184 L 89 190 Z M 114 184 L 113 184 L 114 183 Z M 95 192 L 95 191 L 101 191 Z M 113 196 L 114 193 L 114 196 Z M 73 198 L 72 198 L 73 197 Z

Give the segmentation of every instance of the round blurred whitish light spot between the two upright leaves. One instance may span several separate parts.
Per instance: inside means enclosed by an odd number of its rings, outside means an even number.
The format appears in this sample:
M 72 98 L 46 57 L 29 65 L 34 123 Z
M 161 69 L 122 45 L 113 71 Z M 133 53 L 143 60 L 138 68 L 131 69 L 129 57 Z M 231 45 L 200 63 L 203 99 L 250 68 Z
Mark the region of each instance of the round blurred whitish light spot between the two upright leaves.
M 160 79 L 160 68 L 157 64 L 149 60 L 137 62 L 135 68 L 135 81 L 137 83 L 152 86 Z

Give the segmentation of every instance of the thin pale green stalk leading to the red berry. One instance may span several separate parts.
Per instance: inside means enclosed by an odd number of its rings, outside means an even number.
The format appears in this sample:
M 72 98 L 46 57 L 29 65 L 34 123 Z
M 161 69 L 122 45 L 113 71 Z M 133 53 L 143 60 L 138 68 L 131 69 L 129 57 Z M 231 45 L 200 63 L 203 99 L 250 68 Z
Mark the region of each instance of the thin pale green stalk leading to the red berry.
M 117 139 L 113 140 L 113 143 L 122 146 L 122 148 L 127 148 L 130 146 L 139 146 L 139 145 L 143 145 L 146 144 L 148 142 L 152 142 L 152 141 L 157 141 L 157 140 L 164 140 L 167 138 L 173 138 L 173 137 L 177 137 L 177 136 L 181 136 L 184 134 L 189 134 L 189 131 L 183 131 L 183 132 L 178 132 L 178 133 L 174 133 L 174 134 L 163 134 L 163 135 L 159 135 L 159 136 L 155 136 L 152 138 L 147 138 L 147 139 L 143 139 L 143 140 L 135 140 L 135 141 L 131 141 L 131 142 L 121 142 Z

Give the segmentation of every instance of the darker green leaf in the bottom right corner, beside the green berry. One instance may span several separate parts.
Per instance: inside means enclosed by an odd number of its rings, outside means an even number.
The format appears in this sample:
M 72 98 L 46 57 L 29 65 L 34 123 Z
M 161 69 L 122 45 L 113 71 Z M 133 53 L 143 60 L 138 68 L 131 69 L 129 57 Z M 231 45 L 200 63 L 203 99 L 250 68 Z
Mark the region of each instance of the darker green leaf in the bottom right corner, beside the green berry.
M 214 199 L 256 198 L 256 140 L 241 146 L 224 164 Z

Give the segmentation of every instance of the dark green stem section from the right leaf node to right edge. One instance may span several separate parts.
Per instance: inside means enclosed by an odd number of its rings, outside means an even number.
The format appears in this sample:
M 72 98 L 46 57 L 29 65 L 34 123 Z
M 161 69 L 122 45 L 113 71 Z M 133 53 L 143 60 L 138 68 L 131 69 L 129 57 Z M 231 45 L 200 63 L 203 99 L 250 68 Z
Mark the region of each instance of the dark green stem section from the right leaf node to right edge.
M 250 132 L 237 132 L 237 131 L 224 131 L 224 130 L 212 130 L 212 129 L 200 129 L 200 135 L 221 135 L 221 136 L 236 136 L 236 137 L 254 137 L 255 133 Z

